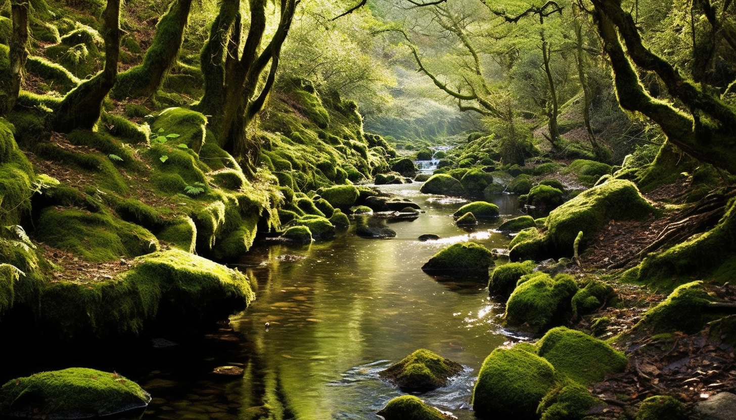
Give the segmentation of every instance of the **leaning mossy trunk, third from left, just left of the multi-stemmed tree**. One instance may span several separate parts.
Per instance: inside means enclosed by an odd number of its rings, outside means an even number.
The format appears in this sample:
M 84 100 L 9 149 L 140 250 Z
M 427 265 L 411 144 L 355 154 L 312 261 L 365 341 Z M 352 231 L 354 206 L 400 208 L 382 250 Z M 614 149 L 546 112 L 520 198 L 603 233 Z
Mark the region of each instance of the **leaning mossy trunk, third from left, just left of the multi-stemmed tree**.
M 177 0 L 158 21 L 153 43 L 143 63 L 118 76 L 112 95 L 116 98 L 147 98 L 156 93 L 166 73 L 179 57 L 184 29 L 189 21 L 191 0 Z

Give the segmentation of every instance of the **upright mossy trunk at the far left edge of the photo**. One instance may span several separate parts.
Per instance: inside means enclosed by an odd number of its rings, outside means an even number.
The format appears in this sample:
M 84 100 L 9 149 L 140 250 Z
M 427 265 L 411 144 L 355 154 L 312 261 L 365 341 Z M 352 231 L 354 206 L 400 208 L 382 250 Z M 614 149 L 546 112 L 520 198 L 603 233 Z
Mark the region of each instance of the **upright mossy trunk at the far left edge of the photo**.
M 4 63 L 0 63 L 0 73 L 6 73 L 0 74 L 0 115 L 6 115 L 15 106 L 28 58 L 28 3 L 14 0 L 10 4 L 10 13 L 13 18 L 13 38 L 7 51 L 7 68 L 3 69 Z

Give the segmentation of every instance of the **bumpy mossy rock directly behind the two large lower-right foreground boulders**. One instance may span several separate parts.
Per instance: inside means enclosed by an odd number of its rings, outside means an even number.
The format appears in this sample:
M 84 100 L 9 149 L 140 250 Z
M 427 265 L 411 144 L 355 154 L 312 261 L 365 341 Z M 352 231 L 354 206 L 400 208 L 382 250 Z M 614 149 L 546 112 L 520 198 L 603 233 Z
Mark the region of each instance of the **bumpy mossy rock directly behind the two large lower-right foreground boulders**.
M 554 279 L 544 273 L 529 276 L 517 285 L 506 302 L 506 323 L 532 332 L 566 324 L 572 313 L 570 300 L 578 291 L 575 280 L 567 274 Z

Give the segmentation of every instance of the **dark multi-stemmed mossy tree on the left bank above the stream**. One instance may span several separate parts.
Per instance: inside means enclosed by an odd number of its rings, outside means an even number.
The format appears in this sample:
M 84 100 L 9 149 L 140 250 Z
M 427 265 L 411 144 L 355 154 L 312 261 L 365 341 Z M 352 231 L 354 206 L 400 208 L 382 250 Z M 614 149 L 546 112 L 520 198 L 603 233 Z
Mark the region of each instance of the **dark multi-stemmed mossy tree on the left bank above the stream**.
M 291 27 L 296 1 L 280 1 L 277 29 L 266 46 L 262 46 L 267 29 L 266 6 L 266 0 L 250 1 L 250 26 L 243 40 L 240 2 L 224 0 L 200 56 L 205 94 L 195 108 L 210 115 L 208 127 L 223 149 L 244 160 L 247 171 L 255 169 L 258 163 L 258 143 L 248 138 L 247 128 L 273 87 L 278 57 Z

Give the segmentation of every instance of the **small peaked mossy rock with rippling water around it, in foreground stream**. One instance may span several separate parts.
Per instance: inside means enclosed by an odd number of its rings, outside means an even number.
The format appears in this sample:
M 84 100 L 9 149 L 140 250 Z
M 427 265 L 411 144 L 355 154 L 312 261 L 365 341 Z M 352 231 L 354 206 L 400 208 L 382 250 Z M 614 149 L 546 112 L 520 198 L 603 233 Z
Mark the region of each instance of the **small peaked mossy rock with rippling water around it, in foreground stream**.
M 447 386 L 450 377 L 463 370 L 460 363 L 436 355 L 427 349 L 419 349 L 394 363 L 378 375 L 389 380 L 405 392 L 431 391 Z

